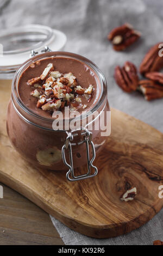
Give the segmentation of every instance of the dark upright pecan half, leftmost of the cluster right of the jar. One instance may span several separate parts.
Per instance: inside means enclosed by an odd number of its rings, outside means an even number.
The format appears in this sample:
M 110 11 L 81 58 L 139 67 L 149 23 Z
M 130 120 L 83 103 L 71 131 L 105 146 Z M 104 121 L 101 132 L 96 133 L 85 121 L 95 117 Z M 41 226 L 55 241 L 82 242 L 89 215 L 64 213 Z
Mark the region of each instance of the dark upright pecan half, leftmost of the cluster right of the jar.
M 120 86 L 124 92 L 133 92 L 139 85 L 136 67 L 131 62 L 124 63 L 123 68 L 116 66 L 114 76 L 118 86 Z

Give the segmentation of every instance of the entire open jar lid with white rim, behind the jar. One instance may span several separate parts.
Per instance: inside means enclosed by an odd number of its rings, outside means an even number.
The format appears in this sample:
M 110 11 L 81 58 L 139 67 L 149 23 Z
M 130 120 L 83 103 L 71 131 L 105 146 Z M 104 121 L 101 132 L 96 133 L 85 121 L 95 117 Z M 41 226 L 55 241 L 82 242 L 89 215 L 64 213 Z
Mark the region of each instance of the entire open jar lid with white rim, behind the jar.
M 66 35 L 57 29 L 42 25 L 26 25 L 1 31 L 0 78 L 11 79 L 19 66 L 46 45 L 60 51 L 66 44 Z

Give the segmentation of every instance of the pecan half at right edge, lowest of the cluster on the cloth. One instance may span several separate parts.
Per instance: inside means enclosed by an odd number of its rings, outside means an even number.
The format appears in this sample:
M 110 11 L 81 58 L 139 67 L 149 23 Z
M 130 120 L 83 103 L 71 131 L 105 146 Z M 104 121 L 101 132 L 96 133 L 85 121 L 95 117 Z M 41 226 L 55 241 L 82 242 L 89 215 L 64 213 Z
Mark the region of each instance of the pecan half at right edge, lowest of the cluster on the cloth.
M 140 80 L 139 89 L 145 95 L 145 99 L 155 100 L 163 97 L 163 86 L 152 80 Z

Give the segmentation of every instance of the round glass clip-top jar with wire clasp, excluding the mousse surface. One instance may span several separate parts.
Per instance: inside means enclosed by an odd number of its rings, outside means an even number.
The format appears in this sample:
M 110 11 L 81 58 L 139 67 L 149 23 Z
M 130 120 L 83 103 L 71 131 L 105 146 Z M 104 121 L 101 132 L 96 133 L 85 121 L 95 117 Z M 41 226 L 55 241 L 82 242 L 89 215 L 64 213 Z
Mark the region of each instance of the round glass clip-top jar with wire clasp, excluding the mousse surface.
M 79 117 L 68 119 L 68 124 L 79 121 L 79 125 L 72 129 L 55 129 L 53 119 L 41 117 L 27 108 L 18 94 L 18 80 L 22 72 L 38 60 L 47 57 L 68 57 L 83 62 L 92 69 L 98 78 L 101 88 L 99 100 L 89 112 L 84 112 Z M 16 71 L 12 81 L 11 100 L 8 106 L 7 131 L 14 148 L 34 166 L 51 170 L 68 170 L 68 180 L 85 179 L 97 174 L 93 160 L 102 149 L 107 135 L 101 136 L 106 121 L 110 126 L 110 119 L 106 120 L 105 114 L 109 112 L 107 100 L 106 80 L 102 72 L 90 60 L 77 54 L 68 52 L 45 52 L 28 59 Z M 102 117 L 103 115 L 103 117 Z M 99 121 L 99 118 L 101 120 Z M 67 122 L 65 119 L 64 122 Z M 97 121 L 99 127 L 97 127 Z M 64 123 L 65 127 L 65 123 Z M 87 163 L 87 173 L 75 176 L 73 168 Z M 93 171 L 91 169 L 94 169 Z

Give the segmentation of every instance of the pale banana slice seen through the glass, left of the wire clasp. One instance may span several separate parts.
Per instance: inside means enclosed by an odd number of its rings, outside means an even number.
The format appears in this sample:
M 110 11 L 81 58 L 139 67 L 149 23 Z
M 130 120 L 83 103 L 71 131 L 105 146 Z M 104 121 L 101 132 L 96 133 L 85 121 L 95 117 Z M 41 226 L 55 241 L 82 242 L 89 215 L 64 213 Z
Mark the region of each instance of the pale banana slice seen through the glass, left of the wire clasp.
M 36 154 L 36 158 L 41 165 L 52 166 L 52 164 L 61 160 L 61 150 L 59 150 L 57 147 L 39 150 Z

